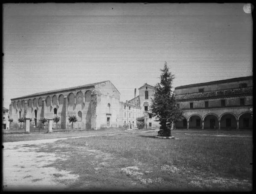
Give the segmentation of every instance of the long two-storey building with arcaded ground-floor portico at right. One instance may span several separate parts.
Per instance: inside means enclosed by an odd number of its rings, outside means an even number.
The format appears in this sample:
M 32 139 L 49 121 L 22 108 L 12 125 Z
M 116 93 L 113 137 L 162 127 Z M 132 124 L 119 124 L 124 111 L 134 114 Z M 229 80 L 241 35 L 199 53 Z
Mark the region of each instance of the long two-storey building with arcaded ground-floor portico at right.
M 183 109 L 176 128 L 252 129 L 253 76 L 175 87 Z

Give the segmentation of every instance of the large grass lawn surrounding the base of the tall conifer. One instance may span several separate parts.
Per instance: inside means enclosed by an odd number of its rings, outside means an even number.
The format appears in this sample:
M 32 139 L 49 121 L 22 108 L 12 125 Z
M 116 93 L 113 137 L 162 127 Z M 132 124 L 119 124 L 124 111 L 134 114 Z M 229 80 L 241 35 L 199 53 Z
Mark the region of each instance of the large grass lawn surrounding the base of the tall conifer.
M 156 134 L 59 140 L 39 152 L 63 158 L 49 166 L 79 175 L 70 190 L 252 190 L 253 141 L 246 132 L 227 137 L 177 130 L 175 140 L 156 139 Z

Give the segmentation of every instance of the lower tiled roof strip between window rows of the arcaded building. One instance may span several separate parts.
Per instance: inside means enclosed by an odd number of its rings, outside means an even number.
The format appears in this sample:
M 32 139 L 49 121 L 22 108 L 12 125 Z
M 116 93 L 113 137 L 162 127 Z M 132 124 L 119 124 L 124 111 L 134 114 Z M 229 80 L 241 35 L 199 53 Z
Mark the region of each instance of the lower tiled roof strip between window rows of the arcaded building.
M 198 98 L 215 98 L 216 96 L 253 95 L 253 87 L 236 88 L 230 90 L 219 90 L 215 92 L 182 94 L 175 96 L 176 100 L 188 100 Z

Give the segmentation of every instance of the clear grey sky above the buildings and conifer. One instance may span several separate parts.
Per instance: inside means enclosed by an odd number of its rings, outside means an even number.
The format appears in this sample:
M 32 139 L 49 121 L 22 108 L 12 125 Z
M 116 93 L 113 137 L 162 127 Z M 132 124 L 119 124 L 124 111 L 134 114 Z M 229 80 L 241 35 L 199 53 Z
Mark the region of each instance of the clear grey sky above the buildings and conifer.
M 110 80 L 120 100 L 251 76 L 253 20 L 244 3 L 3 4 L 3 106 L 11 98 Z M 138 94 L 138 90 L 137 90 Z

